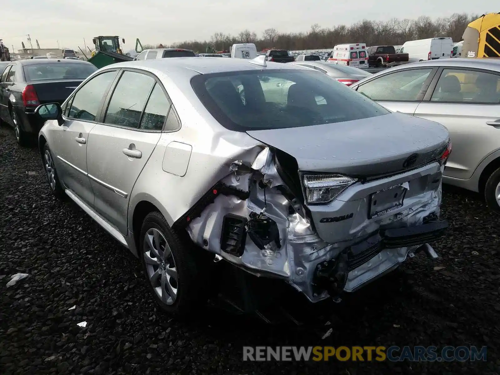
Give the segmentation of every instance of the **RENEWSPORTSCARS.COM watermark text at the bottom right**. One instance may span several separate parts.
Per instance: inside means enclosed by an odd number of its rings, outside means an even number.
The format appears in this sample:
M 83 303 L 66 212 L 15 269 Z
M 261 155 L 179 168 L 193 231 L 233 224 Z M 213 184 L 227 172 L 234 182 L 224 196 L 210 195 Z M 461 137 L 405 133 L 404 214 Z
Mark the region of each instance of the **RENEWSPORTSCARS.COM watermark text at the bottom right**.
M 243 360 L 485 361 L 486 346 L 243 346 Z

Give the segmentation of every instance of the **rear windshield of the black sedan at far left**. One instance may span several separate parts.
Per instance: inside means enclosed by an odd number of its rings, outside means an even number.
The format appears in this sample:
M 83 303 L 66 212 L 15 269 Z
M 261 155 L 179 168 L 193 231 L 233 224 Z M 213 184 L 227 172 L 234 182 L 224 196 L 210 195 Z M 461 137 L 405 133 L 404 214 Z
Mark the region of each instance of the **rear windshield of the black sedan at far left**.
M 49 64 L 24 65 L 26 80 L 85 79 L 97 68 L 88 63 L 55 62 Z

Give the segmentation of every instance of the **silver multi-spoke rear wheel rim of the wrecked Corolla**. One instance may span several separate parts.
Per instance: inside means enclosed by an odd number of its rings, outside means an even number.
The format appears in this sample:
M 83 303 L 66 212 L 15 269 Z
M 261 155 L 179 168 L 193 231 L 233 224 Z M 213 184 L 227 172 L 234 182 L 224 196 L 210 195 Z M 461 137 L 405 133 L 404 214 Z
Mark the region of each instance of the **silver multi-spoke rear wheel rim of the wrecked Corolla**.
M 177 267 L 170 246 L 158 229 L 146 231 L 143 256 L 154 292 L 163 303 L 173 304 L 178 293 Z

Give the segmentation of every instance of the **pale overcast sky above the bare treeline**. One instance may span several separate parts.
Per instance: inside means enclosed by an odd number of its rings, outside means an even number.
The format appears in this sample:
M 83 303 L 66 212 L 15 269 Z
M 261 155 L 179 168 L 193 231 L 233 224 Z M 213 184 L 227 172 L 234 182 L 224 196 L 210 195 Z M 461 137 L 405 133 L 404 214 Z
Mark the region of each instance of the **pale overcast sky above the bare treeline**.
M 454 12 L 500 11 L 498 0 L 16 0 L 2 1 L 0 38 L 7 46 L 82 47 L 96 35 L 125 38 L 125 50 L 142 44 L 209 39 L 214 32 L 237 34 L 248 28 L 261 35 L 268 27 L 280 32 L 307 31 L 352 24 L 363 18 L 446 17 Z M 36 47 L 36 46 L 35 46 Z

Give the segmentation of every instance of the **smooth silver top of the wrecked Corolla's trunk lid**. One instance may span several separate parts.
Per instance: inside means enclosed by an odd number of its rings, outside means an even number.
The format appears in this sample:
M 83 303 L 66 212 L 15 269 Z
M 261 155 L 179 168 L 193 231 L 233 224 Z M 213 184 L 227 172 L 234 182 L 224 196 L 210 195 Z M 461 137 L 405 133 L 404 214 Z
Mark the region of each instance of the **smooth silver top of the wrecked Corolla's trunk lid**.
M 247 133 L 293 156 L 301 171 L 360 178 L 378 178 L 406 170 L 405 161 L 410 155 L 413 167 L 425 164 L 439 156 L 448 139 L 443 125 L 399 112 Z

